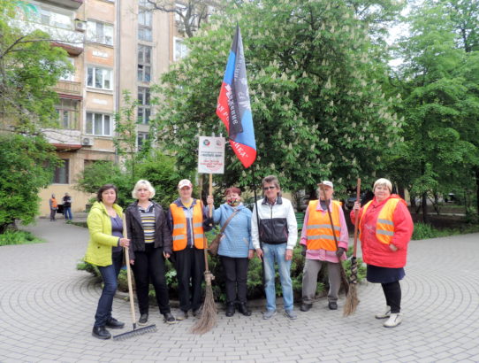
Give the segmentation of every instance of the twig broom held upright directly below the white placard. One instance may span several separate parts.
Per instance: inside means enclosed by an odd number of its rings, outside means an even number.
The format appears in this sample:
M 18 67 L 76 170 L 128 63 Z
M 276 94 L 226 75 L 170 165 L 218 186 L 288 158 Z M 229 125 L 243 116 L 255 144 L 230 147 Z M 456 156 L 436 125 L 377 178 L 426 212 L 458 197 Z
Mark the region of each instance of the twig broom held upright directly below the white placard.
M 213 195 L 213 174 L 209 174 L 209 195 Z M 213 216 L 213 208 L 209 206 L 209 217 Z M 200 318 L 194 323 L 194 326 L 191 328 L 193 334 L 204 334 L 209 332 L 212 328 L 217 325 L 217 304 L 215 303 L 215 297 L 213 295 L 213 287 L 211 286 L 211 281 L 215 279 L 215 276 L 211 274 L 208 266 L 208 254 L 206 253 L 208 249 L 208 242 L 206 237 L 203 236 L 203 251 L 204 251 L 204 263 L 205 263 L 205 272 L 204 280 L 206 282 L 205 287 L 205 296 L 203 305 L 201 305 L 201 314 Z

